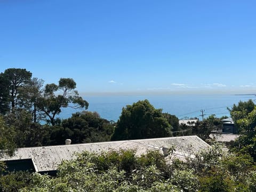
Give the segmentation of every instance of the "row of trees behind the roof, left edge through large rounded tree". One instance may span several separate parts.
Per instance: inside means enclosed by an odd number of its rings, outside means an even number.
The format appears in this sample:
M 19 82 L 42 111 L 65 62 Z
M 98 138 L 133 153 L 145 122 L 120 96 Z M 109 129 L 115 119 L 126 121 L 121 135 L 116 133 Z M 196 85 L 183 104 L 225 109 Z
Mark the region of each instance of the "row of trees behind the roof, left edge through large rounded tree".
M 2 149 L 10 148 L 4 144 L 9 137 L 14 138 L 14 148 L 63 145 L 66 139 L 83 143 L 169 137 L 172 130 L 179 130 L 177 117 L 163 114 L 147 100 L 123 108 L 117 123 L 101 118 L 97 112 L 85 111 L 89 103 L 79 96 L 71 78 L 44 85 L 43 79 L 32 77 L 30 71 L 11 68 L 0 74 L 0 88 L 0 125 L 12 133 L 12 137 L 2 136 Z M 58 118 L 67 107 L 84 111 L 67 119 Z

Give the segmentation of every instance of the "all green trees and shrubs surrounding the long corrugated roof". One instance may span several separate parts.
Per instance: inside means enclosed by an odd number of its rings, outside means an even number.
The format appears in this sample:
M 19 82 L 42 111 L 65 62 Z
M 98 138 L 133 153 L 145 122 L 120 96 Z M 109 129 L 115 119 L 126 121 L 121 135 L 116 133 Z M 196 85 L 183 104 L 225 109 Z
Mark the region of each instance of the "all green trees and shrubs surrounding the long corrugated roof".
M 124 139 L 198 135 L 209 141 L 213 130 L 222 129 L 214 115 L 190 125 L 179 125 L 175 115 L 162 113 L 148 100 L 123 108 L 116 123 L 97 112 L 75 90 L 71 78 L 46 84 L 26 69 L 6 69 L 0 74 L 0 156 L 17 147 L 63 145 Z M 57 115 L 66 107 L 81 108 L 67 119 Z M 186 162 L 148 151 L 140 157 L 134 150 L 100 155 L 77 154 L 63 162 L 57 177 L 29 172 L 5 171 L 0 162 L 0 191 L 256 191 L 256 106 L 252 100 L 229 109 L 241 137 L 229 151 L 211 143 Z M 42 123 L 44 122 L 44 123 Z

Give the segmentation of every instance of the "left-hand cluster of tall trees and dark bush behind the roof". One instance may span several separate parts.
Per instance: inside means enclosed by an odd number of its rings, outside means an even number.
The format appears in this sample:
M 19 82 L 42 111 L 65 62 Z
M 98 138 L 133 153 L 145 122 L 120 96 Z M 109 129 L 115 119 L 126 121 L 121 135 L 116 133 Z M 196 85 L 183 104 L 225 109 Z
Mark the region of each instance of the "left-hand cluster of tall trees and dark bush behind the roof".
M 109 141 L 114 124 L 99 114 L 82 112 L 59 119 L 62 108 L 87 109 L 89 103 L 75 90 L 71 78 L 46 84 L 26 69 L 6 69 L 0 74 L 0 149 Z M 46 122 L 43 123 L 43 122 Z M 43 123 L 43 124 L 42 124 Z

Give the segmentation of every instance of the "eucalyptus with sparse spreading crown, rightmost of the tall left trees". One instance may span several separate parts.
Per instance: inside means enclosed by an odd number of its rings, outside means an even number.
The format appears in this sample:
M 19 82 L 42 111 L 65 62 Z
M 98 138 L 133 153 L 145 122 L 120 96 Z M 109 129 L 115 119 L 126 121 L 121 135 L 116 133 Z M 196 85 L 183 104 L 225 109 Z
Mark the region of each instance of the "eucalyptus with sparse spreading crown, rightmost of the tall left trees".
M 52 125 L 56 124 L 56 115 L 61 113 L 61 108 L 84 108 L 89 103 L 79 96 L 75 90 L 76 82 L 72 78 L 60 78 L 59 84 L 46 84 L 43 95 L 37 99 L 37 107 L 47 117 Z

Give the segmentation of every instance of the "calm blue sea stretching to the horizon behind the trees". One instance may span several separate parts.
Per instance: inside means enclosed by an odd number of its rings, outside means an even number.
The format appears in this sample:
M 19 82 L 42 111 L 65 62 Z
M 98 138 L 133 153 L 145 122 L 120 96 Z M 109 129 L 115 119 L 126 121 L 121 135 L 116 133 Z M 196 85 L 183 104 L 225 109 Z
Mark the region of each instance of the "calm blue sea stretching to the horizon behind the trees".
M 148 99 L 155 108 L 177 116 L 178 118 L 198 117 L 202 119 L 201 110 L 205 117 L 209 115 L 230 116 L 227 107 L 232 107 L 239 101 L 256 100 L 255 95 L 221 95 L 221 94 L 173 94 L 173 95 L 140 95 L 140 96 L 90 96 L 84 97 L 89 102 L 88 111 L 97 111 L 102 118 L 117 121 L 122 108 L 139 100 Z M 71 117 L 79 110 L 66 108 L 60 118 Z

